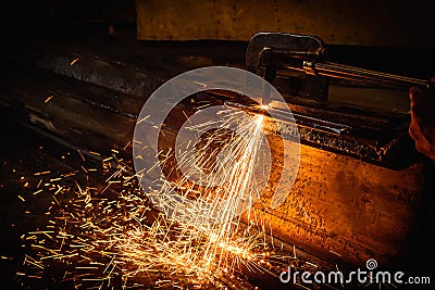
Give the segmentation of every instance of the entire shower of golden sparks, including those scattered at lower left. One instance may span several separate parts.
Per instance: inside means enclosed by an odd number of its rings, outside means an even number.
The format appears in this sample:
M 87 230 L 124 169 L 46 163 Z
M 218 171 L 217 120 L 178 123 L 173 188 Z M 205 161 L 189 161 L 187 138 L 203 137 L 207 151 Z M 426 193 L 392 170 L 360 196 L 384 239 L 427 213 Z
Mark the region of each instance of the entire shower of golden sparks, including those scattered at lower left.
M 220 122 L 232 125 L 231 134 L 207 134 L 208 124 L 190 127 L 201 140 L 192 154 L 179 154 L 183 174 L 166 171 L 158 191 L 140 190 L 130 165 L 115 154 L 102 163 L 109 176 L 103 188 L 76 180 L 71 185 L 65 178 L 46 184 L 54 189 L 48 223 L 23 237 L 32 249 L 24 261 L 33 268 L 27 276 L 61 276 L 61 282 L 75 287 L 185 288 L 227 286 L 225 277 L 240 267 L 261 268 L 268 251 L 264 234 L 252 230 L 253 222 L 241 224 L 238 216 L 265 186 L 256 177 L 264 160 L 263 116 L 234 110 L 221 115 Z M 160 152 L 159 166 L 171 167 L 171 159 L 174 150 Z M 203 185 L 194 185 L 195 178 Z M 179 204 L 174 190 L 191 203 Z M 157 196 L 165 203 L 158 206 L 172 209 L 172 215 L 153 209 L 149 199 Z M 247 216 L 250 219 L 249 211 Z

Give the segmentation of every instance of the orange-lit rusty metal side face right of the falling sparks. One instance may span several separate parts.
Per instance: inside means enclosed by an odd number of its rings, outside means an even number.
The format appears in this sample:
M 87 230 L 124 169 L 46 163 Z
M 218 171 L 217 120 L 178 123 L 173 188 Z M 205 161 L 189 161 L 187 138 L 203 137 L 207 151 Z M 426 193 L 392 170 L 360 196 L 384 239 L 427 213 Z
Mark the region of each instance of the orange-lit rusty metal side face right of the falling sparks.
M 415 257 L 418 237 L 412 232 L 423 191 L 421 164 L 391 171 L 308 146 L 301 147 L 300 162 L 285 203 L 252 210 L 265 212 L 277 237 L 356 265 L 370 256 L 385 265 L 399 256 Z M 269 198 L 264 194 L 262 204 Z

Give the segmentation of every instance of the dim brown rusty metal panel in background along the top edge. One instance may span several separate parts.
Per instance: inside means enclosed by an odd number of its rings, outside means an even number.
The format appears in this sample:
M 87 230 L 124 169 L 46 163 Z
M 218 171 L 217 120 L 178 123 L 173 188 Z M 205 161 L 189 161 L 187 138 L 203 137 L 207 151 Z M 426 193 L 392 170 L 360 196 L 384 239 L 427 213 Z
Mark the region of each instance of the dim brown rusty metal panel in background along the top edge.
M 136 2 L 137 37 L 247 40 L 258 31 L 318 35 L 330 43 L 434 45 L 430 1 L 225 0 Z

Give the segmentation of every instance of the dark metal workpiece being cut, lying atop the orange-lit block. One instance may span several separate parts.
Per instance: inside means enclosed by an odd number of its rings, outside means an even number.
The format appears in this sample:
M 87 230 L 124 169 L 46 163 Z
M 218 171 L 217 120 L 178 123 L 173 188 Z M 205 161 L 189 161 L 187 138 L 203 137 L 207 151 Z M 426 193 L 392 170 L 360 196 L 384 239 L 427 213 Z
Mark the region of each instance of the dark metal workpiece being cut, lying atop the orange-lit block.
M 263 130 L 269 136 L 278 135 L 289 141 L 297 136 L 302 144 L 352 156 L 378 166 L 402 169 L 415 162 L 418 156 L 417 152 L 409 150 L 412 142 L 408 136 L 400 134 L 400 125 L 386 119 L 360 116 L 360 123 L 357 124 L 352 118 L 346 119 L 343 114 L 334 112 L 322 114 L 316 111 L 319 117 L 310 116 L 313 110 L 303 113 L 293 111 L 291 115 L 288 115 L 282 114 L 279 109 L 288 104 L 277 102 L 264 106 L 226 100 L 224 104 L 264 115 Z M 328 121 L 328 115 L 335 115 L 337 119 L 341 118 L 346 123 Z

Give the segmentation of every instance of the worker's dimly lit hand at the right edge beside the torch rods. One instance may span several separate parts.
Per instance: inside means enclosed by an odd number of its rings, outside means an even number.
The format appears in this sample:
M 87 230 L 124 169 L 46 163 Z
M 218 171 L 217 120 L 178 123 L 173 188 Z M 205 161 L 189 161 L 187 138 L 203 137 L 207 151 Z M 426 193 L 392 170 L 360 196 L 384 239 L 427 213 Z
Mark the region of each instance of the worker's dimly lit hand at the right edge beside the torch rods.
M 435 161 L 435 96 L 419 88 L 411 88 L 411 125 L 409 134 L 415 148 Z

